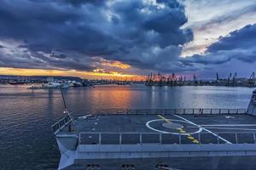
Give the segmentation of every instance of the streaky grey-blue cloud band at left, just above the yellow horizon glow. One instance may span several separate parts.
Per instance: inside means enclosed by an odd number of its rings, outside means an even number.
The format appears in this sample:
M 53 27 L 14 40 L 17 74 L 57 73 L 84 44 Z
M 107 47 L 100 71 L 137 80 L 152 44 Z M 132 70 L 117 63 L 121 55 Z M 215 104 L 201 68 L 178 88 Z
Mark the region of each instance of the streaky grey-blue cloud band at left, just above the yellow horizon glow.
M 96 59 L 91 58 L 73 59 L 63 54 L 49 55 L 26 50 L 18 54 L 15 51 L 10 54 L 3 54 L 0 51 L 0 67 L 56 70 L 73 70 L 75 68 L 77 71 L 92 71 L 96 67 L 90 65 L 90 62 L 96 61 Z

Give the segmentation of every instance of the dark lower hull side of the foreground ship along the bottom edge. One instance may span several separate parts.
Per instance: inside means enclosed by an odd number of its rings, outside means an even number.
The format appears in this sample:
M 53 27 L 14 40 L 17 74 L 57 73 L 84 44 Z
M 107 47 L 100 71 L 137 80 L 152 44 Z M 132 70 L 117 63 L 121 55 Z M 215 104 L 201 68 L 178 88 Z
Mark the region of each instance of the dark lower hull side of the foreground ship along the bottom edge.
M 120 170 L 125 166 L 137 170 L 180 169 L 180 170 L 254 170 L 256 156 L 210 156 L 210 157 L 172 157 L 143 159 L 104 159 L 75 160 L 65 170 L 82 170 L 93 166 L 101 170 Z M 123 168 L 122 168 L 123 167 Z M 159 168 L 157 168 L 159 167 Z M 167 167 L 167 168 L 165 168 Z

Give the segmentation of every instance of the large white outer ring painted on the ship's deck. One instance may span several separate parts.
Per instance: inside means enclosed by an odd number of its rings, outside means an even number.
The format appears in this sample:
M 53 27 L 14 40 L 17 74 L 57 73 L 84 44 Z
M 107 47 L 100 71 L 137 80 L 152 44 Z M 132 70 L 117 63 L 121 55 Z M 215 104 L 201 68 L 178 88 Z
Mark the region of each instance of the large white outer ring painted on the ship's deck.
M 171 121 L 171 119 L 167 119 L 167 120 Z M 166 132 L 166 131 L 162 131 L 162 130 L 155 129 L 154 127 L 150 127 L 149 123 L 151 123 L 151 122 L 158 122 L 158 121 L 164 121 L 164 120 L 162 120 L 162 119 L 154 119 L 154 120 L 148 121 L 148 122 L 146 123 L 146 126 L 147 126 L 148 128 L 150 128 L 151 130 L 154 130 L 154 131 L 156 131 L 156 132 L 158 132 L 158 133 L 170 133 L 170 134 L 176 134 L 176 135 L 196 134 L 196 133 L 201 133 L 201 131 L 202 131 L 202 128 L 201 128 L 200 126 L 197 126 L 199 129 L 198 129 L 197 131 L 193 132 L 193 133 L 171 133 L 171 132 Z M 172 121 L 189 123 L 189 122 L 182 121 L 182 120 L 172 120 Z M 191 124 L 191 123 L 189 123 L 189 124 Z

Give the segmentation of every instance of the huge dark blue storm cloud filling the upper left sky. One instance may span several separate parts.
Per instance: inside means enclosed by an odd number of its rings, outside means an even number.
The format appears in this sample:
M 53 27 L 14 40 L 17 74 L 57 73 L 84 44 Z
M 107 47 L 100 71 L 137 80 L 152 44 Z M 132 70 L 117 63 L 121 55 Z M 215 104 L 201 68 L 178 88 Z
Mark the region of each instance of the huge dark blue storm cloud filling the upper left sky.
M 32 55 L 28 68 L 38 60 L 49 67 L 90 71 L 99 57 L 161 71 L 177 60 L 179 46 L 193 39 L 189 28 L 181 28 L 186 22 L 177 0 L 3 0 L 0 41 L 20 42 L 26 55 Z M 45 57 L 53 50 L 61 54 Z M 2 66 L 19 67 L 19 57 L 25 66 L 24 53 L 15 52 L 12 60 L 1 55 Z

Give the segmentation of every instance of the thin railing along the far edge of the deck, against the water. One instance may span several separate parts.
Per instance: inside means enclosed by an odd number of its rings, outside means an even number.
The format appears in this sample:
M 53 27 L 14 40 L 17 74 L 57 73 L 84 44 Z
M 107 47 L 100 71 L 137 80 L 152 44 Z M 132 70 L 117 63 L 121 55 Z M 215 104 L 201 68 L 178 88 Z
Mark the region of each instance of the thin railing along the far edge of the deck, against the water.
M 209 109 L 209 108 L 193 108 L 193 109 L 99 109 L 90 111 L 90 114 L 96 115 L 225 115 L 225 114 L 246 114 L 247 109 Z

